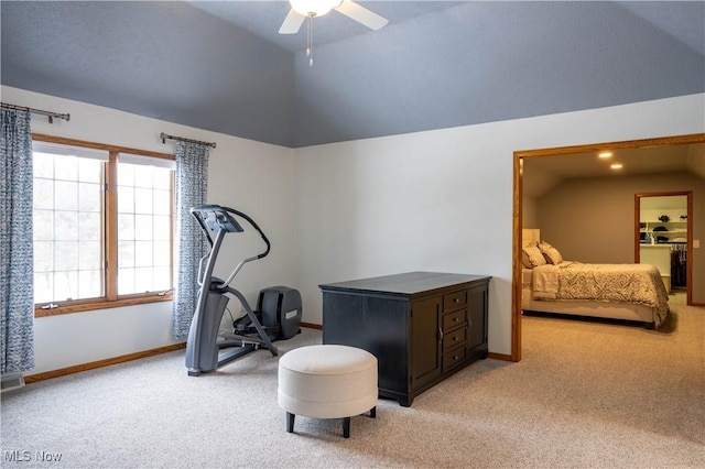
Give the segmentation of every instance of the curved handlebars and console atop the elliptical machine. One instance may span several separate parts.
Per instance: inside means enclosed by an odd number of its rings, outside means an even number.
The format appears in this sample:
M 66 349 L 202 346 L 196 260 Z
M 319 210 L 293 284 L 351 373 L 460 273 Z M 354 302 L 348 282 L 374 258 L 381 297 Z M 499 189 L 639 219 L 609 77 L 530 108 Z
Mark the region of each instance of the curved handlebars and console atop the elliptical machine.
M 247 222 L 250 223 L 260 233 L 260 236 L 262 237 L 262 240 L 264 241 L 264 244 L 267 244 L 267 249 L 264 250 L 264 252 L 241 260 L 238 263 L 238 265 L 235 268 L 235 270 L 230 273 L 228 279 L 221 285 L 218 285 L 219 288 L 224 288 L 228 286 L 230 282 L 232 282 L 232 279 L 235 279 L 235 276 L 238 274 L 240 269 L 242 269 L 242 265 L 245 265 L 248 262 L 262 259 L 267 257 L 267 254 L 269 254 L 269 251 L 271 249 L 269 239 L 267 238 L 262 229 L 259 227 L 259 225 L 257 225 L 257 222 L 252 220 L 247 214 L 243 214 L 240 210 L 236 210 L 235 208 L 223 207 L 219 205 L 212 205 L 212 204 L 198 205 L 198 206 L 192 207 L 189 211 L 191 211 L 191 215 L 194 216 L 196 221 L 198 221 L 198 225 L 200 226 L 202 231 L 206 234 L 206 239 L 208 240 L 208 243 L 210 244 L 210 248 L 212 248 L 212 252 L 209 252 L 208 254 L 204 255 L 200 259 L 200 263 L 198 265 L 199 273 L 202 272 L 203 261 L 209 258 L 210 255 L 214 255 L 214 252 L 213 252 L 214 249 L 216 251 L 215 254 L 217 255 L 217 250 L 219 249 L 219 242 L 214 241 L 212 232 L 215 232 L 216 237 L 218 237 L 218 234 L 223 237 L 224 232 L 245 231 L 240 226 L 240 223 L 238 223 L 237 220 L 232 218 L 232 216 L 230 216 L 229 214 L 237 215 L 238 217 L 241 217 L 245 220 L 247 220 Z M 200 275 L 198 275 L 198 277 L 199 277 L 198 284 L 203 285 L 203 280 L 200 279 Z

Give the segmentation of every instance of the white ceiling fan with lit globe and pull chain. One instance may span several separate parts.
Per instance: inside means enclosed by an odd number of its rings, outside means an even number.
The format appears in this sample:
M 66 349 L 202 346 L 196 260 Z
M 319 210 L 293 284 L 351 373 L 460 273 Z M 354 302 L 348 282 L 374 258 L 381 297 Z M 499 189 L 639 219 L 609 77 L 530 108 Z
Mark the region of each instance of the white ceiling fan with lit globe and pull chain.
M 335 10 L 375 31 L 389 23 L 386 18 L 352 0 L 289 0 L 289 2 L 291 3 L 291 10 L 279 29 L 279 33 L 296 34 L 304 21 L 307 20 L 306 56 L 308 57 L 308 66 L 313 66 L 312 21 L 315 17 L 323 17 L 330 10 Z

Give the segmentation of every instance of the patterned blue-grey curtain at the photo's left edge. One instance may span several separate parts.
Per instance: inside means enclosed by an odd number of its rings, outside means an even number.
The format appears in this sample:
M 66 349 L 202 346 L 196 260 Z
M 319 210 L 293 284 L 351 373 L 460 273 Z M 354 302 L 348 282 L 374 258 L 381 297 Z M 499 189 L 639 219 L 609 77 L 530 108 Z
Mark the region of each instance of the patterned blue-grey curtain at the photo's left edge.
M 0 157 L 0 371 L 34 368 L 34 246 L 30 113 L 2 109 Z

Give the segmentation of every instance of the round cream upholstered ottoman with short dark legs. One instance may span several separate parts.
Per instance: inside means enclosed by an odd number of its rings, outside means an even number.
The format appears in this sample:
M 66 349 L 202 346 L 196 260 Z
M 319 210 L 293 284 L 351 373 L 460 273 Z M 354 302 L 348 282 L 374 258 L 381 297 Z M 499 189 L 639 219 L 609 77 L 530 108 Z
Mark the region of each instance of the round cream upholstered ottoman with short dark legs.
M 350 437 L 350 417 L 377 408 L 377 358 L 362 349 L 322 345 L 293 349 L 279 360 L 279 406 L 286 411 L 286 432 L 294 417 L 343 418 Z

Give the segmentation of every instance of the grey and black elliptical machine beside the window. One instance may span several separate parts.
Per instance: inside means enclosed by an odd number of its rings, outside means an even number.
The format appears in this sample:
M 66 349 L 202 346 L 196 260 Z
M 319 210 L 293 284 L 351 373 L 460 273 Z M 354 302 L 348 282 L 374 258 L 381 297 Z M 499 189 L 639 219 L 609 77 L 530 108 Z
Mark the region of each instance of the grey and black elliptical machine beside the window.
M 186 342 L 186 368 L 189 377 L 209 372 L 246 353 L 265 348 L 278 355 L 273 340 L 289 339 L 300 332 L 302 302 L 299 291 L 286 286 L 272 286 L 260 292 L 257 310 L 252 310 L 245 296 L 232 288 L 230 282 L 242 266 L 269 254 L 270 242 L 260 227 L 241 211 L 219 205 L 199 205 L 191 209 L 210 244 L 210 252 L 198 264 L 198 305 L 194 313 Z M 224 282 L 213 276 L 213 270 L 227 233 L 245 231 L 230 215 L 247 220 L 267 244 L 264 252 L 243 259 Z M 215 239 L 214 239 L 215 234 Z M 203 263 L 207 260 L 205 271 Z M 202 276 L 203 274 L 203 276 Z M 220 321 L 228 304 L 226 294 L 235 295 L 246 315 L 232 324 L 232 331 L 221 331 Z M 226 350 L 237 347 L 237 349 Z

